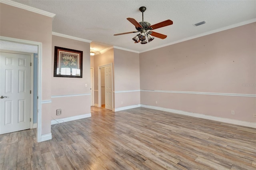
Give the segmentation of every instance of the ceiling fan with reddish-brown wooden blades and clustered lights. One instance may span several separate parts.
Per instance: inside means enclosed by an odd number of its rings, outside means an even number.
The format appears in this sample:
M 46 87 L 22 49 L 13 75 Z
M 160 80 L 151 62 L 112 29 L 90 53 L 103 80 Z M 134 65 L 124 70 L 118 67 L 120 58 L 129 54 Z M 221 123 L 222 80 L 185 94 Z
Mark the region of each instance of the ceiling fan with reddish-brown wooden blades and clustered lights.
M 146 22 L 146 21 L 143 20 L 143 12 L 146 11 L 146 7 L 142 6 L 142 7 L 139 8 L 139 10 L 140 10 L 140 12 L 142 12 L 142 22 L 137 22 L 133 18 L 127 18 L 127 20 L 130 21 L 135 26 L 137 31 L 114 34 L 114 36 L 140 32 L 138 35 L 136 35 L 134 38 L 132 38 L 132 40 L 134 40 L 134 43 L 139 43 L 140 42 L 141 44 L 151 42 L 152 40 L 154 40 L 153 36 L 155 36 L 157 38 L 165 39 L 167 37 L 166 35 L 160 34 L 160 33 L 157 33 L 157 32 L 153 32 L 151 30 L 155 30 L 157 28 L 162 28 L 162 27 L 165 27 L 165 26 L 172 25 L 173 24 L 172 20 L 166 20 L 166 21 L 163 21 L 163 22 L 159 22 L 158 24 L 151 25 L 149 22 Z M 148 42 L 146 40 L 146 37 L 148 39 Z

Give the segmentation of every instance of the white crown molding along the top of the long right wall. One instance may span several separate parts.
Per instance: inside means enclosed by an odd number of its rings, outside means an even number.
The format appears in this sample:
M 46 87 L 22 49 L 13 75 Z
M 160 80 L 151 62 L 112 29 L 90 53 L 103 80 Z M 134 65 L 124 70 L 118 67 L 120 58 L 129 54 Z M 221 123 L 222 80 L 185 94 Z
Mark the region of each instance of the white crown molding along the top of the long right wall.
M 214 34 L 216 32 L 221 32 L 221 31 L 224 31 L 224 30 L 229 30 L 231 28 L 236 28 L 236 27 L 243 26 L 243 25 L 246 25 L 246 24 L 251 24 L 253 22 L 256 22 L 256 18 L 253 18 L 251 20 L 247 20 L 247 21 L 244 21 L 244 22 L 239 22 L 237 24 L 233 24 L 233 25 L 230 25 L 230 26 L 222 27 L 222 28 L 212 30 L 212 31 L 209 31 L 209 32 L 205 32 L 205 33 L 202 33 L 202 34 L 197 34 L 195 36 L 184 38 L 182 40 L 178 40 L 178 41 L 175 41 L 175 42 L 167 43 L 167 44 L 164 44 L 164 45 L 159 45 L 159 46 L 156 46 L 154 48 L 150 48 L 150 49 L 147 49 L 147 50 L 144 50 L 144 51 L 140 51 L 139 53 L 144 53 L 146 51 L 151 51 L 153 49 L 158 49 L 158 48 L 166 47 L 166 46 L 173 45 L 173 44 L 176 44 L 176 43 L 185 42 L 185 41 L 188 41 L 188 40 L 192 40 L 194 38 L 199 38 L 199 37 L 202 37 L 202 36 L 207 36 L 209 34 Z

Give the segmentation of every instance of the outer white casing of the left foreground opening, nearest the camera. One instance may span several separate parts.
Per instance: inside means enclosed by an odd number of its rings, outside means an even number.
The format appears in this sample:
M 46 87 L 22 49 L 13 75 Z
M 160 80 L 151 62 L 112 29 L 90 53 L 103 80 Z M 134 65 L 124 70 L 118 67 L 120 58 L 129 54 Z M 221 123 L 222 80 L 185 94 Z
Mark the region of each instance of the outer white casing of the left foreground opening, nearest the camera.
M 16 42 L 16 43 L 23 43 L 28 45 L 36 45 L 38 47 L 38 90 L 37 90 L 37 105 L 38 105 L 38 112 L 37 112 L 37 128 L 36 128 L 36 141 L 42 141 L 42 43 L 41 42 L 34 42 L 30 40 L 22 40 L 17 38 L 10 38 L 0 36 L 0 40 Z

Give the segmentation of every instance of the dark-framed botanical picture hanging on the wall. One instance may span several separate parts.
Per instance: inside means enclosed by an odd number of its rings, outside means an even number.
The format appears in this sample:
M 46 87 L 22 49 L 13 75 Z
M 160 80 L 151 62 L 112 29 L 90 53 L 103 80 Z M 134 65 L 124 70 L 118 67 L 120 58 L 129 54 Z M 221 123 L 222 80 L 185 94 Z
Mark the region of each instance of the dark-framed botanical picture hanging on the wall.
M 83 51 L 54 47 L 53 77 L 82 78 Z

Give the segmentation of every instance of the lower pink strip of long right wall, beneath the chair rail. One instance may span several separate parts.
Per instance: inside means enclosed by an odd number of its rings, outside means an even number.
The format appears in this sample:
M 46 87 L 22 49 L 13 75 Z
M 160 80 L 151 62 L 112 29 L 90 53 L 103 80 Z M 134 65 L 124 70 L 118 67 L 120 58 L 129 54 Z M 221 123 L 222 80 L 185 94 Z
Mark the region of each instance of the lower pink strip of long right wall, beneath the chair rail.
M 161 93 L 141 91 L 141 104 L 199 113 L 215 117 L 255 122 L 254 97 Z M 157 101 L 157 104 L 156 102 Z M 253 108 L 254 107 L 254 108 Z M 231 115 L 235 111 L 235 115 Z M 251 113 L 251 114 L 250 114 Z

